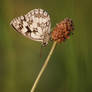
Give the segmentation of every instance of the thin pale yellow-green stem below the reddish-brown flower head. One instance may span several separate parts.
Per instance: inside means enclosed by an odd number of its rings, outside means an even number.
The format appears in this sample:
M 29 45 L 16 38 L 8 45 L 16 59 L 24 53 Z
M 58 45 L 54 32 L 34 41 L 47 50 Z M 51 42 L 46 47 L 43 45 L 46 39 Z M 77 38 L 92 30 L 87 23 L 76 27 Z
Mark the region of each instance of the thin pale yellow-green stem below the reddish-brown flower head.
M 40 80 L 40 78 L 41 78 L 41 76 L 42 76 L 46 66 L 48 65 L 49 59 L 50 59 L 50 57 L 51 57 L 51 55 L 52 55 L 52 53 L 53 53 L 53 51 L 54 51 L 54 49 L 56 47 L 56 43 L 57 42 L 53 43 L 52 48 L 51 48 L 51 50 L 50 50 L 50 52 L 49 52 L 49 54 L 48 54 L 48 56 L 47 56 L 47 58 L 46 58 L 46 60 L 45 60 L 45 62 L 43 64 L 43 66 L 42 66 L 42 68 L 41 68 L 41 70 L 40 70 L 40 72 L 39 72 L 39 74 L 38 74 L 38 76 L 37 76 L 33 86 L 32 86 L 32 89 L 30 90 L 30 92 L 34 92 L 35 91 L 35 88 L 36 88 L 36 86 L 37 86 L 37 84 L 38 84 L 38 82 L 39 82 L 39 80 Z

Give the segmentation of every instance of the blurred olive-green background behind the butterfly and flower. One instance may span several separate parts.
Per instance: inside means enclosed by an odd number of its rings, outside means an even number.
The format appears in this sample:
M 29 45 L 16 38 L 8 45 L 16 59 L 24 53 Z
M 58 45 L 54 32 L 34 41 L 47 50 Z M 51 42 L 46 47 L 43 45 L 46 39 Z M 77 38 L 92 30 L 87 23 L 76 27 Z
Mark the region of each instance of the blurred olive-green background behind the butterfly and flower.
M 0 92 L 29 92 L 52 42 L 43 48 L 10 26 L 34 8 L 49 12 L 52 27 L 65 17 L 74 35 L 58 44 L 35 92 L 92 92 L 92 0 L 0 0 Z

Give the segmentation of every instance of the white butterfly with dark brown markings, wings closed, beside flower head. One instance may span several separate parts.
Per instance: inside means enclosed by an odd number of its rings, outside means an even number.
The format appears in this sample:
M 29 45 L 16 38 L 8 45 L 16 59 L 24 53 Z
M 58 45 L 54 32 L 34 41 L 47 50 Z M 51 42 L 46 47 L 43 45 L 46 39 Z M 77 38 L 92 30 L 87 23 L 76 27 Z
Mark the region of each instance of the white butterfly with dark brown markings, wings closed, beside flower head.
M 51 21 L 49 14 L 43 9 L 33 9 L 27 14 L 14 18 L 10 25 L 25 37 L 39 41 L 43 46 L 50 39 Z

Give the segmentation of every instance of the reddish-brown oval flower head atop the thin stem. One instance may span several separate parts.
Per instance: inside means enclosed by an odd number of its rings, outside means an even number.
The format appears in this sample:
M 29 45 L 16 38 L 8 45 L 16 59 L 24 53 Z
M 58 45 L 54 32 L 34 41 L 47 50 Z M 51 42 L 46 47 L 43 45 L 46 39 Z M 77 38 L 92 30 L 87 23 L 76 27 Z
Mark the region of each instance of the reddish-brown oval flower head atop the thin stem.
M 56 25 L 52 32 L 52 39 L 57 41 L 58 43 L 63 42 L 68 39 L 72 30 L 73 30 L 73 22 L 71 19 L 66 18 Z

